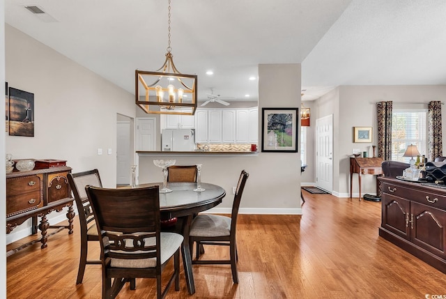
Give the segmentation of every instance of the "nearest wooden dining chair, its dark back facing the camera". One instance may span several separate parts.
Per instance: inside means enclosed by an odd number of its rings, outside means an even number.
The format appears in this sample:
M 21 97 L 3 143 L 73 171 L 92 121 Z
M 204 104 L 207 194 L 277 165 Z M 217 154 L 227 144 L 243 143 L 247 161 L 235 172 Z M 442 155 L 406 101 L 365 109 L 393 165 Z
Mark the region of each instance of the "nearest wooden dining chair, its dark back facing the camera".
M 102 298 L 115 298 L 125 282 L 131 285 L 136 278 L 156 278 L 158 299 L 174 280 L 179 291 L 183 236 L 161 232 L 159 186 L 85 189 L 100 231 Z M 162 270 L 172 257 L 174 271 L 162 290 Z

